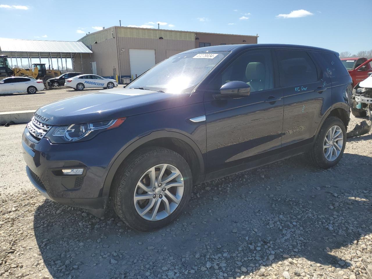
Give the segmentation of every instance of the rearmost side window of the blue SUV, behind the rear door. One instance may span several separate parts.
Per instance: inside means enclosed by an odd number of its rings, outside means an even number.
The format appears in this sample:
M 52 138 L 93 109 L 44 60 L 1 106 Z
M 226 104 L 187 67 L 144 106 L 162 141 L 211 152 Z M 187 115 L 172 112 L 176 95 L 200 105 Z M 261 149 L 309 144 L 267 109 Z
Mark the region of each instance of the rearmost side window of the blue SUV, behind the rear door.
M 321 62 L 323 71 L 326 71 L 330 77 L 344 77 L 349 76 L 349 72 L 346 70 L 344 64 L 340 58 L 334 53 L 329 52 L 313 52 L 317 57 L 317 60 Z

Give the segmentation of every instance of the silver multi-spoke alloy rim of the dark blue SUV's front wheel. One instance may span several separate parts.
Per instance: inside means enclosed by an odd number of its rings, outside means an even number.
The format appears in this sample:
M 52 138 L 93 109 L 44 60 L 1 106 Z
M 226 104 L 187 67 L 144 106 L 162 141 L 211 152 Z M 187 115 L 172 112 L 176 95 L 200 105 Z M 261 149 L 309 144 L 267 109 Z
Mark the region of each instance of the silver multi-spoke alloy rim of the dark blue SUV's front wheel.
M 159 164 L 142 175 L 135 188 L 133 202 L 142 218 L 158 221 L 176 210 L 183 192 L 181 172 L 170 164 Z

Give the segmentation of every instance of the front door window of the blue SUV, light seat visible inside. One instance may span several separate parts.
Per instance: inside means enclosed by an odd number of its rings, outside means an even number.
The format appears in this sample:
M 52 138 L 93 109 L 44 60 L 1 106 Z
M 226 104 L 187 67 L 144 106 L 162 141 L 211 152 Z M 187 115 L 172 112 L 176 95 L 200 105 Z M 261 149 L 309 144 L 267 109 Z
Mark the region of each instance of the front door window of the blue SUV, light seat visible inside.
M 212 81 L 215 90 L 228 81 L 244 81 L 250 92 L 274 88 L 273 63 L 269 50 L 250 51 L 235 59 Z

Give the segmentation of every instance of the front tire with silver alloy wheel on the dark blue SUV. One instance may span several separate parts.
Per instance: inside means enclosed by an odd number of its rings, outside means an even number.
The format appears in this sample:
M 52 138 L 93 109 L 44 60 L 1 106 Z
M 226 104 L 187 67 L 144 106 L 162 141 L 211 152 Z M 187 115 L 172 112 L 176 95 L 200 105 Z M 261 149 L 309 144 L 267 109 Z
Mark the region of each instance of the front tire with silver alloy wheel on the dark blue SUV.
M 151 185 L 151 171 L 155 170 L 154 181 L 159 181 L 159 170 L 163 167 L 164 171 L 160 182 L 166 183 L 165 186 L 159 186 L 160 183 Z M 164 182 L 171 175 L 176 176 L 175 169 L 180 172 L 176 180 L 172 179 L 169 182 Z M 140 182 L 143 183 L 142 187 L 138 186 Z M 180 186 L 182 182 L 183 186 Z M 179 186 L 169 187 L 170 183 Z M 143 185 L 145 185 L 147 191 L 142 190 Z M 153 186 L 152 189 L 151 186 Z M 166 187 L 169 188 L 164 192 Z M 154 191 L 154 189 L 156 190 Z M 177 199 L 178 196 L 178 205 L 170 198 L 170 192 L 173 198 Z M 185 159 L 169 149 L 149 147 L 136 152 L 119 167 L 113 180 L 110 196 L 116 214 L 129 227 L 138 231 L 154 231 L 170 224 L 179 217 L 189 202 L 191 192 L 192 174 Z M 149 198 L 139 199 L 135 202 L 135 195 L 141 196 L 144 194 L 148 195 Z M 157 203 L 159 203 L 158 211 L 155 212 L 154 216 L 154 207 L 157 206 Z M 168 212 L 166 211 L 167 203 L 169 205 L 167 207 Z M 143 217 L 140 216 L 140 211 L 144 212 Z

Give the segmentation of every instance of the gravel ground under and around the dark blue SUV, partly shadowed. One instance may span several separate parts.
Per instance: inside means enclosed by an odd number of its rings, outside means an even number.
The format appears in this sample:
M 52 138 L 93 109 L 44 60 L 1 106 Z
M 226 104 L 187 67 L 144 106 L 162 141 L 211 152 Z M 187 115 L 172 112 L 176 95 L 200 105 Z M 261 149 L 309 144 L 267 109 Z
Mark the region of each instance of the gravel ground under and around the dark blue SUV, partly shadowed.
M 330 170 L 300 155 L 196 185 L 176 222 L 142 233 L 42 198 L 23 128 L 0 127 L 0 278 L 372 278 L 372 134 Z

